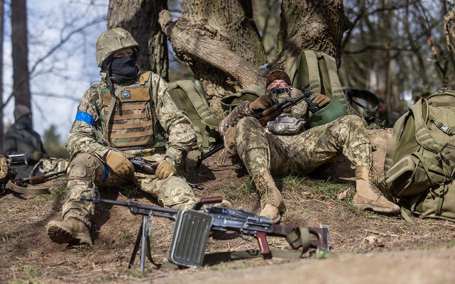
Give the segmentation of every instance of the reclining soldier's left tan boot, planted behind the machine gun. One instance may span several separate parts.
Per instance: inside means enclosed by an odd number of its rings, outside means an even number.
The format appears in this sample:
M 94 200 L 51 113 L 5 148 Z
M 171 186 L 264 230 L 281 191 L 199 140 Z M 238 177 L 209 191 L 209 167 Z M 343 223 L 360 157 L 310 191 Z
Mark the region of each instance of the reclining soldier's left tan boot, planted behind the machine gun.
M 253 181 L 260 195 L 259 215 L 270 218 L 272 223 L 278 222 L 281 218 L 279 213 L 284 210 L 284 202 L 270 171 L 264 170 L 254 174 Z

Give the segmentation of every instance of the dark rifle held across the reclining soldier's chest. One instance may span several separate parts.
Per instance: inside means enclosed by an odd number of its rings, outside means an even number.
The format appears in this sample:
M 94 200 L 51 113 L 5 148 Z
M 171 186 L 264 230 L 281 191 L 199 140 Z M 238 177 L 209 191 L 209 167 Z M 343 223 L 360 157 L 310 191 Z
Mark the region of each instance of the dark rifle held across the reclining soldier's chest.
M 307 100 L 309 99 L 309 96 L 313 94 L 313 92 L 307 92 L 306 91 L 306 88 L 304 86 L 302 86 L 300 88 L 300 90 L 302 91 L 302 95 L 297 97 L 297 98 L 288 98 L 288 99 L 285 99 L 281 102 L 276 102 L 274 105 L 270 106 L 269 108 L 263 110 L 261 108 L 258 108 L 258 109 L 254 109 L 256 111 L 256 113 L 251 116 L 253 118 L 256 118 L 257 120 L 260 120 L 260 118 L 266 116 L 267 114 L 270 114 L 270 113 L 273 113 L 275 112 L 276 110 L 278 110 L 280 113 L 284 113 L 288 108 L 290 108 L 291 106 L 294 106 L 296 105 L 297 103 L 299 103 L 300 101 L 302 100 Z M 196 168 L 198 168 L 201 164 L 202 164 L 202 161 L 206 158 L 208 158 L 209 156 L 213 155 L 214 153 L 216 153 L 217 151 L 221 150 L 224 148 L 224 143 L 221 143 L 219 145 L 217 145 L 215 148 L 211 149 L 210 151 L 206 152 L 205 154 L 201 154 L 200 156 L 197 157 L 197 163 L 196 163 Z

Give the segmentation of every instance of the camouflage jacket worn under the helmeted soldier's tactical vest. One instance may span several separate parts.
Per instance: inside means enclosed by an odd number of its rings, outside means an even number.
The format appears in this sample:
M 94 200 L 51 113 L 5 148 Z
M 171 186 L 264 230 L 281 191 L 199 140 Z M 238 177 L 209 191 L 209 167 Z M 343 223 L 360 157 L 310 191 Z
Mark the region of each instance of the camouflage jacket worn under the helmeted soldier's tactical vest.
M 157 98 L 152 96 L 156 115 L 167 138 L 165 159 L 178 166 L 191 149 L 191 145 L 196 139 L 195 132 L 184 111 L 179 110 L 172 100 L 172 90 L 164 79 L 155 73 L 152 73 L 151 76 L 150 91 L 158 89 Z M 88 153 L 104 160 L 103 156 L 108 148 L 99 140 L 99 131 L 104 129 L 106 123 L 104 115 L 101 115 L 104 113 L 105 106 L 99 93 L 99 86 L 90 87 L 80 100 L 77 112 L 83 114 L 83 119 L 76 116 L 65 143 L 66 149 L 71 155 Z M 154 150 L 140 149 L 127 152 L 140 154 L 152 153 Z

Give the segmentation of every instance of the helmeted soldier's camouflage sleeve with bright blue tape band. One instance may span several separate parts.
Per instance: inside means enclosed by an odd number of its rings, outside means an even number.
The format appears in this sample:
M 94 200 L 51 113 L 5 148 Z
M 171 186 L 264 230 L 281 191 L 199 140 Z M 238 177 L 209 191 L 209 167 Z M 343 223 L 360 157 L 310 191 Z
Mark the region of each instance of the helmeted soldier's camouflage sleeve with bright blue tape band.
M 79 105 L 71 130 L 69 131 L 68 140 L 65 143 L 66 149 L 71 155 L 77 153 L 88 153 L 103 160 L 103 155 L 107 148 L 96 140 L 95 125 L 100 125 L 99 107 L 95 105 L 93 97 L 97 96 L 96 88 L 89 88 Z

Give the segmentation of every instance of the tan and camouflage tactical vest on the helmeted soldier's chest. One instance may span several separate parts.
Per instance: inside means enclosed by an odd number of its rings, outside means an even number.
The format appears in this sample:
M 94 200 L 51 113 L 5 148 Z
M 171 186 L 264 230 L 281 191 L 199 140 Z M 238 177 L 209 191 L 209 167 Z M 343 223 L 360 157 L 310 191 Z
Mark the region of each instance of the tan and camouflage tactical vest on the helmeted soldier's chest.
M 107 145 L 117 148 L 155 148 L 165 145 L 164 129 L 156 116 L 150 91 L 151 71 L 141 74 L 129 86 L 119 86 L 115 97 L 105 85 L 100 85 L 104 112 L 103 137 Z M 153 92 L 153 94 L 151 93 Z M 104 118 L 104 119 L 102 119 Z

